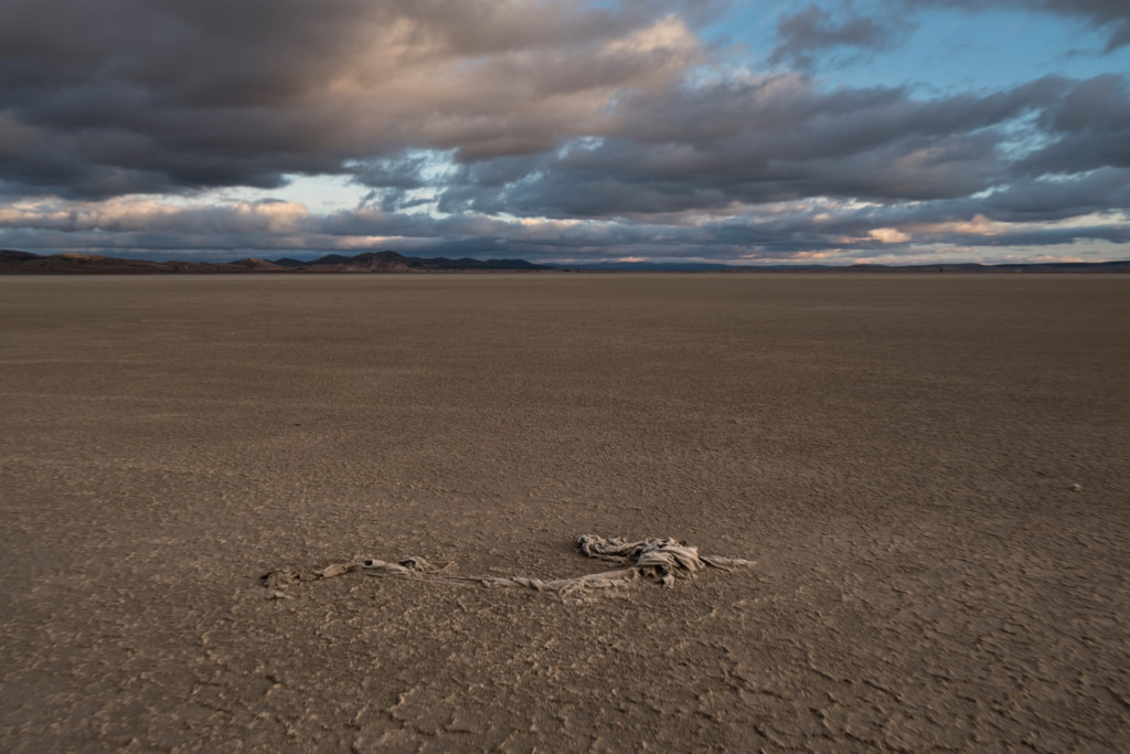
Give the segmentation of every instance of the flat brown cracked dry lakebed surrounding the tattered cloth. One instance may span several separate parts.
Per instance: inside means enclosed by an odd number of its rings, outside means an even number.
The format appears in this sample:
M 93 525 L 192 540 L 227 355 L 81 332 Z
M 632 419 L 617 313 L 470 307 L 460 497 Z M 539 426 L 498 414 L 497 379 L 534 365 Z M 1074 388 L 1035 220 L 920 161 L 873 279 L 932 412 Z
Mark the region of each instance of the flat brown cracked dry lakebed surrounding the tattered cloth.
M 1125 751 L 1128 326 L 1130 276 L 0 279 L 0 749 Z M 259 581 L 585 532 L 758 563 Z

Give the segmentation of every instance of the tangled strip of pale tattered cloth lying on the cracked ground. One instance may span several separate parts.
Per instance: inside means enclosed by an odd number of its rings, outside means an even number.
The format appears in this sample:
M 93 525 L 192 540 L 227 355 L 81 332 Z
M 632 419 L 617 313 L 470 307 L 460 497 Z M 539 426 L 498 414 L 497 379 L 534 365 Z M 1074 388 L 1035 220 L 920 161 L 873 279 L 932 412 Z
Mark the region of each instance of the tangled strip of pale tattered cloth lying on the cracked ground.
M 673 587 L 677 579 L 693 578 L 706 567 L 729 571 L 732 567 L 754 565 L 753 561 L 718 555 L 699 555 L 698 548 L 680 544 L 676 539 L 643 539 L 624 541 L 617 538 L 584 535 L 576 547 L 586 557 L 620 564 L 611 571 L 590 573 L 573 579 L 542 580 L 530 577 L 463 577 L 446 573 L 451 564 L 435 566 L 423 557 L 407 557 L 390 562 L 367 557 L 351 563 L 334 563 L 304 575 L 290 569 L 271 571 L 262 577 L 263 586 L 271 589 L 276 599 L 288 598 L 284 590 L 298 581 L 333 579 L 346 573 L 362 571 L 372 577 L 418 579 L 453 584 L 480 584 L 484 587 L 518 587 L 556 595 L 563 601 L 584 601 L 597 590 L 618 589 L 641 581 L 652 581 L 664 587 Z

